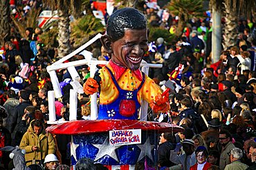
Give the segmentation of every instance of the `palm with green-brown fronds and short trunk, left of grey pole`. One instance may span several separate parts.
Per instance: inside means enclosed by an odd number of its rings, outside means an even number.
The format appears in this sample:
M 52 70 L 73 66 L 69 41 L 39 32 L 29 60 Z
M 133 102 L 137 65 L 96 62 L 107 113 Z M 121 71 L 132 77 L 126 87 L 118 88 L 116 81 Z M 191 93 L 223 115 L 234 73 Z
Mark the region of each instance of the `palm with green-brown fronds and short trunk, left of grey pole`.
M 203 17 L 202 0 L 172 0 L 165 6 L 170 12 L 179 17 L 176 36 L 180 37 L 185 28 L 185 24 L 192 17 Z

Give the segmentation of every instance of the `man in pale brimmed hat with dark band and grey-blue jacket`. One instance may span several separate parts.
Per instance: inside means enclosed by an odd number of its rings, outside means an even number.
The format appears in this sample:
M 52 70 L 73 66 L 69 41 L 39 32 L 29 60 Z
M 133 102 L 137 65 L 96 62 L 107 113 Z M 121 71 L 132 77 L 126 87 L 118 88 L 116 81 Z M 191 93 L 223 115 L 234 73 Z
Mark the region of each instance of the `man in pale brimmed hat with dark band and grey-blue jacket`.
M 183 147 L 182 155 L 178 155 L 178 151 Z M 192 139 L 185 139 L 182 145 L 178 143 L 174 150 L 170 152 L 170 161 L 176 164 L 182 164 L 183 170 L 190 170 L 190 167 L 196 164 L 196 155 L 194 153 L 194 141 Z

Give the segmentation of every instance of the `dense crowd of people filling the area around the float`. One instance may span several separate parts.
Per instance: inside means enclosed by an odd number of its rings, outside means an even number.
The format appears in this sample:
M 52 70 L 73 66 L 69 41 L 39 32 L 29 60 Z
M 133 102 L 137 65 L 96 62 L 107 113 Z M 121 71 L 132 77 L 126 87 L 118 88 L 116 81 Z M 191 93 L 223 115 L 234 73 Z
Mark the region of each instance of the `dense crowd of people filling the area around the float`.
M 24 14 L 42 1 L 24 1 Z M 22 9 L 21 9 L 22 10 Z M 152 26 L 175 34 L 176 17 L 163 17 L 164 10 L 145 8 Z M 149 114 L 148 120 L 179 125 L 185 130 L 172 136 L 163 133 L 158 146 L 159 169 L 255 169 L 256 167 L 256 27 L 255 21 L 239 21 L 237 45 L 221 52 L 217 63 L 210 63 L 211 20 L 190 19 L 181 39 L 166 44 L 165 37 L 149 43 L 144 56 L 148 63 L 163 68 L 149 70 L 159 86 L 171 80 L 176 89 L 170 94 L 170 111 Z M 26 37 L 12 32 L 0 56 L 0 147 L 19 146 L 26 151 L 26 166 L 40 164 L 45 169 L 70 169 L 68 136 L 46 133 L 47 92 L 53 90 L 46 67 L 56 59 L 56 50 L 40 42 L 40 28 L 27 28 Z M 109 55 L 93 47 L 93 58 L 109 60 Z M 70 59 L 84 59 L 82 54 Z M 89 67 L 75 67 L 81 84 L 89 78 Z M 68 121 L 71 75 L 58 70 L 63 97 L 55 101 L 56 120 Z M 163 87 L 164 88 L 164 87 Z M 89 96 L 78 94 L 77 120 L 90 119 Z M 151 111 L 149 111 L 151 113 Z M 2 169 L 12 169 L 8 153 L 0 151 Z M 8 160 L 8 161 L 7 161 Z M 61 164 L 57 167 L 57 164 Z M 66 165 L 65 165 L 66 164 Z M 104 169 L 101 164 L 81 159 L 76 169 Z

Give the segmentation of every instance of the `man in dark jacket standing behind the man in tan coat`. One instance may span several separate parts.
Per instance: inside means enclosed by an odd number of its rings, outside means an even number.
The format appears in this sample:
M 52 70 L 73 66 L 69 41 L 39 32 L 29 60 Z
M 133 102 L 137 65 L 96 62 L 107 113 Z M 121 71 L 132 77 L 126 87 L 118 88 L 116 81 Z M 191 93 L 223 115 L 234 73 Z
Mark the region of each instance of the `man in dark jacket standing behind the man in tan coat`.
M 24 109 L 27 106 L 30 106 L 29 93 L 22 89 L 19 92 L 19 105 L 15 107 L 15 111 L 10 115 L 10 132 L 12 133 L 12 146 L 19 146 L 19 142 L 21 139 L 15 139 L 15 134 L 17 132 L 17 125 L 21 122 L 21 118 L 24 115 Z

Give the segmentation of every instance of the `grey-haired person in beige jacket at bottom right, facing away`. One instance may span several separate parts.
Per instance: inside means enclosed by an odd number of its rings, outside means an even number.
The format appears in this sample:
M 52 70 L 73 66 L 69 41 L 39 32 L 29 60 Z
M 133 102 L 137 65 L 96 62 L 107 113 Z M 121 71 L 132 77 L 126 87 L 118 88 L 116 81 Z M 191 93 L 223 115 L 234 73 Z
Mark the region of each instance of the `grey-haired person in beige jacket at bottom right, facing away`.
M 243 158 L 243 151 L 237 147 L 231 149 L 228 153 L 231 164 L 227 164 L 224 170 L 245 170 L 248 168 L 247 164 L 241 162 Z

